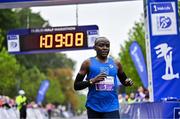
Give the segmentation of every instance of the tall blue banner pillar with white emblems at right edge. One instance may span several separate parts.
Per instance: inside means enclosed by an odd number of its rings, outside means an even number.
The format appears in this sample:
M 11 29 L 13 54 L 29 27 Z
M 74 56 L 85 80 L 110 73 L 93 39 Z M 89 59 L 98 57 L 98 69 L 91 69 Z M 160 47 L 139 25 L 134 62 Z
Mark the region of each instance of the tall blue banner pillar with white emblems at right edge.
M 147 63 L 152 101 L 180 99 L 180 37 L 177 0 L 148 0 Z

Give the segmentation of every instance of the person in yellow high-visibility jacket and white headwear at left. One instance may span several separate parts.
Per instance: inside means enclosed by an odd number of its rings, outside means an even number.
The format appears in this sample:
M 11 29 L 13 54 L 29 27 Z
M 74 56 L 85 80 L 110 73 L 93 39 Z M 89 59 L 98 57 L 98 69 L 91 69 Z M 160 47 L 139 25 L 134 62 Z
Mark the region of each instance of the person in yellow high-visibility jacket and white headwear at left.
M 19 90 L 19 95 L 16 97 L 16 105 L 19 110 L 20 119 L 26 119 L 27 117 L 27 97 L 25 96 L 24 90 Z

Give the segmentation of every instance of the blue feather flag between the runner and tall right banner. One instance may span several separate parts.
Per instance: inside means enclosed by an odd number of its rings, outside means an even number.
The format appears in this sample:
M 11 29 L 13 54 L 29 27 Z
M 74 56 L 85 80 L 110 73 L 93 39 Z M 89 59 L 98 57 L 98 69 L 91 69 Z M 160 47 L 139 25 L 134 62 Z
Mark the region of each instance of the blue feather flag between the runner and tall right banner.
M 129 50 L 130 50 L 131 58 L 136 67 L 136 70 L 140 76 L 142 83 L 143 83 L 143 86 L 147 89 L 148 88 L 148 77 L 147 77 L 146 64 L 144 61 L 144 56 L 143 56 L 141 47 L 139 46 L 139 44 L 136 41 L 134 41 L 134 42 L 132 42 Z

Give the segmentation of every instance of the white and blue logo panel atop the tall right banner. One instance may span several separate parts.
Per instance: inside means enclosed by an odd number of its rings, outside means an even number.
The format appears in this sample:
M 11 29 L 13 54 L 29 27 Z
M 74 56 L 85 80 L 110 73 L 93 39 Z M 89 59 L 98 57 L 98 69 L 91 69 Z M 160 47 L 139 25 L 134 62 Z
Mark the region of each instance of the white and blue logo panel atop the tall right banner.
M 177 21 L 174 2 L 151 4 L 152 35 L 177 34 Z

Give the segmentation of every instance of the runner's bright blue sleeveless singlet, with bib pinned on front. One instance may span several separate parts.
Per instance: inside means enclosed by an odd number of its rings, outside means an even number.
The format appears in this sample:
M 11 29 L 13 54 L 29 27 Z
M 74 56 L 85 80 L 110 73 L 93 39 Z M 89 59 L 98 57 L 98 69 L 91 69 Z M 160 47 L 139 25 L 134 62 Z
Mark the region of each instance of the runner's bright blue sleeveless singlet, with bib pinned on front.
M 97 112 L 111 112 L 119 110 L 117 94 L 117 66 L 112 58 L 108 58 L 106 63 L 102 63 L 96 57 L 90 58 L 90 70 L 87 80 L 96 77 L 101 72 L 108 76 L 106 80 L 89 87 L 86 107 Z

